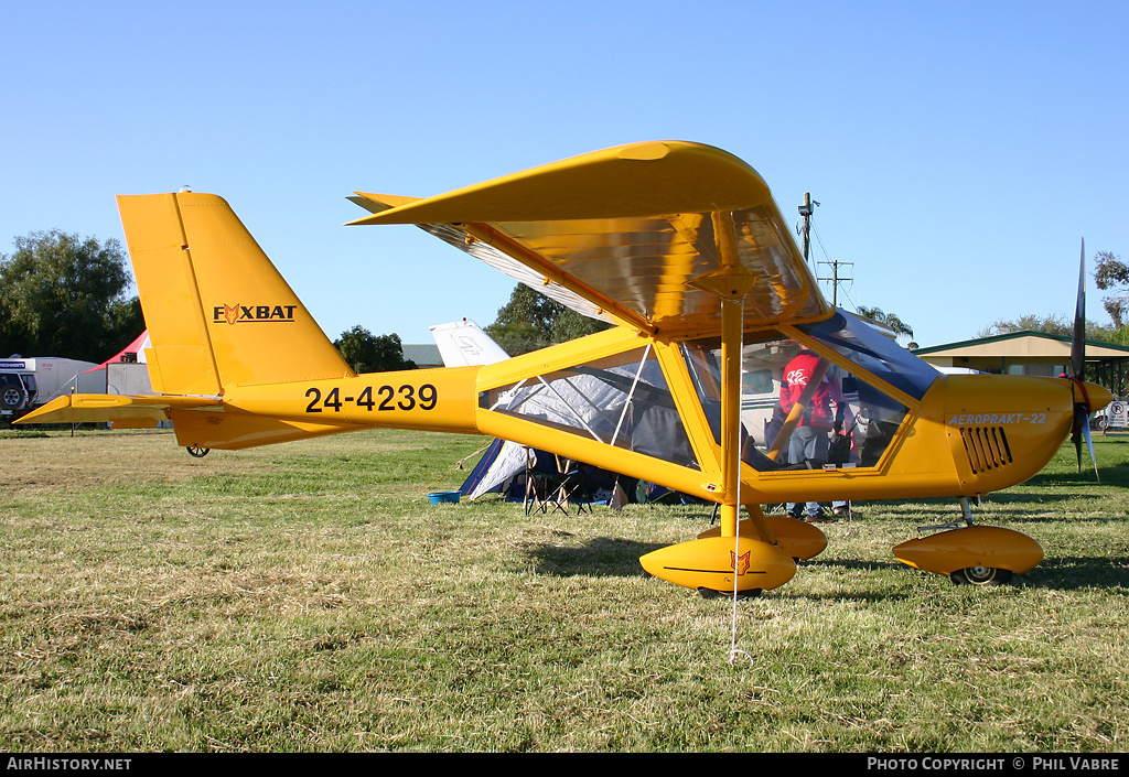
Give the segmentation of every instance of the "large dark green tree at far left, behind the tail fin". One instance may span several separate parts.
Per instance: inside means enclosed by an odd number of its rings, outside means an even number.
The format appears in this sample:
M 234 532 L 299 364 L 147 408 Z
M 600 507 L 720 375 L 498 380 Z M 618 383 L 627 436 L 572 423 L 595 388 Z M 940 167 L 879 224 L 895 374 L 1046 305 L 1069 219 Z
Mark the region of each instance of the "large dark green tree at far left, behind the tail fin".
M 129 285 L 115 239 L 58 229 L 17 237 L 16 252 L 0 255 L 0 348 L 100 361 L 145 329 Z

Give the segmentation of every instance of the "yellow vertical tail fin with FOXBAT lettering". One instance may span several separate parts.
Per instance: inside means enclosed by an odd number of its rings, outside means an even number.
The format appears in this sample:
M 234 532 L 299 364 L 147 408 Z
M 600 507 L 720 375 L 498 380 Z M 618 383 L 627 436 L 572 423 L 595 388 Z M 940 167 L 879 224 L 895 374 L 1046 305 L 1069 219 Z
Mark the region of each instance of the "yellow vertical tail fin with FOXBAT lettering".
M 353 375 L 224 199 L 129 195 L 117 208 L 156 391 L 213 396 Z

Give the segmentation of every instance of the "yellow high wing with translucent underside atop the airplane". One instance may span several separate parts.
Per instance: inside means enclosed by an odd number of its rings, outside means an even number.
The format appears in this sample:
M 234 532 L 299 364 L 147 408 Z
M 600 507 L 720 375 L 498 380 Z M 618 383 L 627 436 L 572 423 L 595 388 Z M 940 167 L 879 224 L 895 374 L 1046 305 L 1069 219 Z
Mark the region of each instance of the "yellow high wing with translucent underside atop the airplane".
M 665 337 L 720 332 L 744 278 L 745 326 L 830 307 L 752 167 L 682 141 L 620 146 L 414 200 L 359 193 L 356 221 L 415 224 L 594 317 Z M 710 285 L 710 279 L 720 279 Z

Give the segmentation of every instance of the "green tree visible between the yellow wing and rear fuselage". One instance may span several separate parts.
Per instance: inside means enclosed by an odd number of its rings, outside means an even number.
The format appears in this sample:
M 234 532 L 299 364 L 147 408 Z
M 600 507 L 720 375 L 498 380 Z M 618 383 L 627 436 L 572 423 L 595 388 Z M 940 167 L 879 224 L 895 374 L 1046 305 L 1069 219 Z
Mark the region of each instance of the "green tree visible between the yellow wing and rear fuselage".
M 485 332 L 504 351 L 517 356 L 609 326 L 611 324 L 589 318 L 525 283 L 518 283 Z

